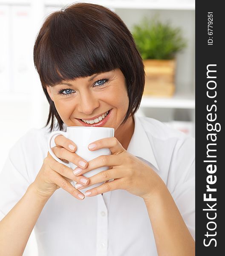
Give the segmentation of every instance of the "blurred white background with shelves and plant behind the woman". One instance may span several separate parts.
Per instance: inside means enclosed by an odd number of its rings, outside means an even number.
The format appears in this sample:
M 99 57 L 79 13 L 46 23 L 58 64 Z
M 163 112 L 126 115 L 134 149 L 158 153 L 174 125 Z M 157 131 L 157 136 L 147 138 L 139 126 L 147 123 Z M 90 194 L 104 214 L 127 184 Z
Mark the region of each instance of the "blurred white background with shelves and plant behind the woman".
M 51 12 L 75 3 L 69 0 L 0 0 L 0 169 L 9 149 L 31 128 L 42 128 L 47 120 L 49 105 L 41 88 L 33 64 L 33 45 L 44 18 Z M 195 1 L 193 0 L 95 0 L 79 1 L 97 3 L 117 13 L 135 35 L 138 49 L 144 60 L 147 75 L 146 88 L 139 116 L 158 119 L 167 125 L 195 136 Z M 185 46 L 177 52 L 155 57 L 144 51 L 154 51 L 153 42 L 142 41 L 151 37 L 155 26 L 144 28 L 143 18 L 149 25 L 156 19 L 159 23 L 170 22 L 179 28 Z M 134 29 L 134 26 L 138 27 Z M 162 26 L 161 26 L 162 28 Z M 174 34 L 168 27 L 157 32 L 161 38 Z M 141 34 L 142 33 L 142 34 Z M 151 37 L 152 38 L 152 37 Z M 150 38 L 150 39 L 151 39 Z M 179 38 L 180 39 L 180 38 Z M 179 39 L 170 38 L 169 43 Z M 149 44 L 149 45 L 148 45 Z M 141 48 L 142 45 L 142 48 Z M 143 47 L 144 46 L 144 47 Z M 158 45 L 155 51 L 164 49 Z M 175 45 L 176 48 L 176 45 Z M 154 58 L 154 60 L 150 60 Z M 157 58 L 161 59 L 158 61 Z M 172 62 L 171 62 L 172 59 Z M 164 61 L 165 60 L 165 61 Z M 166 62 L 168 62 L 164 66 Z M 148 66 L 150 65 L 150 66 Z M 38 249 L 32 233 L 24 256 L 37 256 Z

